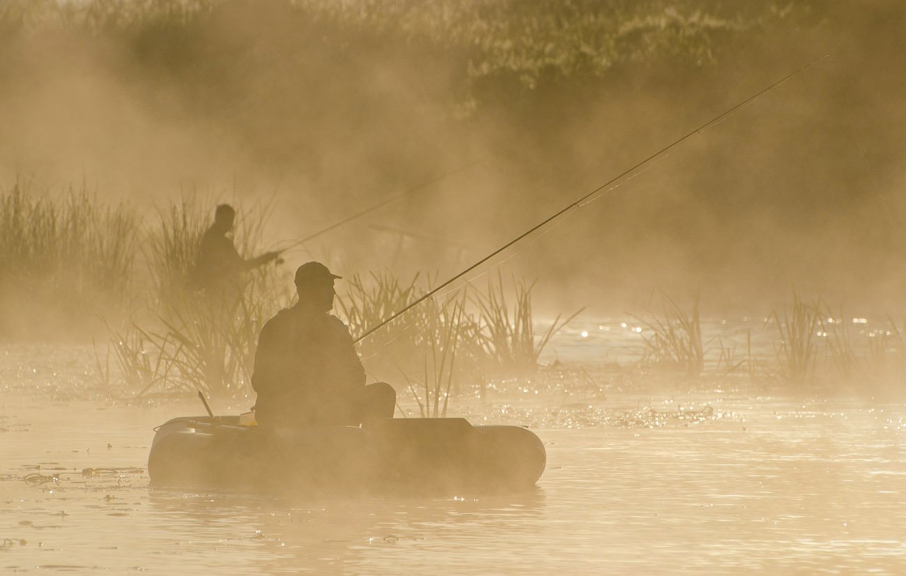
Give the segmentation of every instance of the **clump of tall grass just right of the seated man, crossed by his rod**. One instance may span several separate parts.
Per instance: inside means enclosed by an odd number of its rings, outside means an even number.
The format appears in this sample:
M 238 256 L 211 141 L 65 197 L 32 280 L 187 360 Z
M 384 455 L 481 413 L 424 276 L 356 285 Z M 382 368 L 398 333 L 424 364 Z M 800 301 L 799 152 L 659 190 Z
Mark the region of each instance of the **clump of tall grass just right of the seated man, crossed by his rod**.
M 339 314 L 353 336 L 361 334 L 425 294 L 430 282 L 420 278 L 400 282 L 387 272 L 353 276 L 338 298 Z M 551 338 L 581 312 L 557 316 L 536 334 L 534 286 L 514 279 L 508 287 L 498 275 L 496 282 L 488 282 L 487 292 L 468 287 L 429 298 L 361 343 L 366 369 L 378 380 L 401 374 L 423 415 L 443 414 L 440 398 L 446 403 L 465 383 L 481 386 L 487 373 L 534 374 Z

